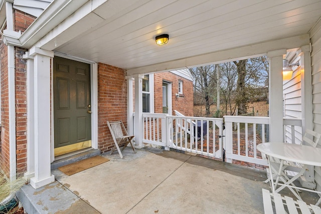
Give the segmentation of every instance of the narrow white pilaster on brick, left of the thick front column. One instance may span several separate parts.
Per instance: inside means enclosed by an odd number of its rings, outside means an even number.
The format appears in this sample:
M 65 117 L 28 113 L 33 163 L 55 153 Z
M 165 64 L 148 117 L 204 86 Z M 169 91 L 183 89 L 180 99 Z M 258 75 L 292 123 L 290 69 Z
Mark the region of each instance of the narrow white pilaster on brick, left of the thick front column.
M 23 56 L 27 59 L 27 172 L 25 177 L 35 176 L 35 115 L 34 115 L 34 57 L 29 52 Z

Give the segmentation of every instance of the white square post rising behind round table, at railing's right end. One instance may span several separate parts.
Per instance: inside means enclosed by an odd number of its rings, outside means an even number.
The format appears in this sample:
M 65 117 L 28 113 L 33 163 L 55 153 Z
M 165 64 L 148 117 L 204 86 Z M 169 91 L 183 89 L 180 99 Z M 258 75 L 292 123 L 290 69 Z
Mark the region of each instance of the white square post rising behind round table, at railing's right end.
M 269 67 L 269 119 L 270 142 L 283 142 L 283 54 L 286 49 L 270 51 Z

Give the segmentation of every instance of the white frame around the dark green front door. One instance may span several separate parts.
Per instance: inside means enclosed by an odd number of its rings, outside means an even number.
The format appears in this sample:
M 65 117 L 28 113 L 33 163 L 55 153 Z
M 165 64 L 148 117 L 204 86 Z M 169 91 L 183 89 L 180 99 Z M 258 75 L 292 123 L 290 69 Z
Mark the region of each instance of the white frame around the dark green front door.
M 78 62 L 83 62 L 90 64 L 90 99 L 91 99 L 91 147 L 94 149 L 98 148 L 98 71 L 97 71 L 97 63 L 85 60 L 82 58 L 72 57 L 68 55 L 64 55 L 61 53 L 55 53 L 57 57 L 63 57 L 69 60 L 75 60 Z M 53 59 L 54 60 L 54 59 Z M 54 72 L 54 63 L 51 63 L 51 76 L 53 77 Z M 54 79 L 51 78 L 51 162 L 55 160 L 54 148 L 55 148 L 55 138 L 54 138 Z

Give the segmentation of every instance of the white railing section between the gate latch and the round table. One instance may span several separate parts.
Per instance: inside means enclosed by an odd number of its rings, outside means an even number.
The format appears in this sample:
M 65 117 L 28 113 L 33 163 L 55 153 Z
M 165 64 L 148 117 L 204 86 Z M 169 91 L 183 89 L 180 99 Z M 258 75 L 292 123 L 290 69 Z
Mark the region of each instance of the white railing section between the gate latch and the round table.
M 267 165 L 256 150 L 256 145 L 266 142 L 266 126 L 268 117 L 224 116 L 225 121 L 225 157 L 227 162 L 232 159 Z M 237 137 L 233 134 L 233 123 L 237 125 Z M 243 128 L 244 126 L 244 128 Z

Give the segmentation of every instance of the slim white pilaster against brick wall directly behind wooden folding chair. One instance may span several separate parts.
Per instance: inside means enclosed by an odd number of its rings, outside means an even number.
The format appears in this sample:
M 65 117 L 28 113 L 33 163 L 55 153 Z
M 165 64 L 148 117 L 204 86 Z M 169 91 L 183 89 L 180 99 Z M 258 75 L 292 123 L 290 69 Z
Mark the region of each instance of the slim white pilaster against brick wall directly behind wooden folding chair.
M 127 79 L 127 132 L 129 135 L 134 134 L 133 120 L 133 96 L 132 96 L 132 76 L 126 76 Z

